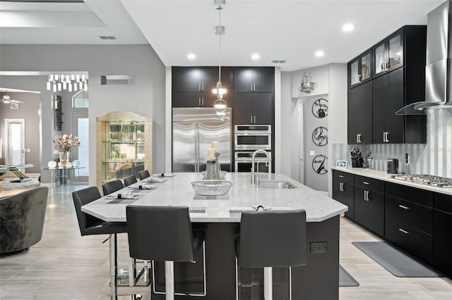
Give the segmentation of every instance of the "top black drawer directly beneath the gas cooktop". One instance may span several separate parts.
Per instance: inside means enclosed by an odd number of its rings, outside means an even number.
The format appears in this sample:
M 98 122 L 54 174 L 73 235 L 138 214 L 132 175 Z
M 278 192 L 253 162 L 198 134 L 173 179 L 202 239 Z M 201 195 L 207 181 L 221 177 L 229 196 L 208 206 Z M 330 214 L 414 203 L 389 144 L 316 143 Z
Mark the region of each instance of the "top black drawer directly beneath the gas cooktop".
M 424 189 L 416 189 L 406 185 L 385 182 L 385 194 L 395 196 L 400 199 L 415 202 L 428 207 L 433 207 L 433 193 Z

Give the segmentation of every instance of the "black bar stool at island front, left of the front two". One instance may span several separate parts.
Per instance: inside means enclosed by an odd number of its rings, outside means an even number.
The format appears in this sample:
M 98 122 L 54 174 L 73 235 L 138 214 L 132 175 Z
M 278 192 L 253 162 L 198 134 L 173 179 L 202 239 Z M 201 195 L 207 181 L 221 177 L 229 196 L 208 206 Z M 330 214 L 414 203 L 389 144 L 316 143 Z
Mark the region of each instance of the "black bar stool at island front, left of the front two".
M 186 206 L 126 206 L 126 218 L 130 256 L 165 261 L 165 299 L 174 299 L 174 261 L 194 261 L 206 232 L 191 229 Z

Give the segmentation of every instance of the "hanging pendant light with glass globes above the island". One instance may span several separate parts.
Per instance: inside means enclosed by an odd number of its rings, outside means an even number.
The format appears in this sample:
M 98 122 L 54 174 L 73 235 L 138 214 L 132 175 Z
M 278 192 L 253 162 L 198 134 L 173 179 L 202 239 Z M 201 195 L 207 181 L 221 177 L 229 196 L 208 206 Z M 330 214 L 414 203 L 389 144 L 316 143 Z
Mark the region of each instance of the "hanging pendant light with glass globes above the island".
M 227 103 L 223 99 L 223 94 L 226 94 L 226 89 L 221 84 L 221 36 L 225 34 L 225 26 L 221 25 L 221 10 L 225 6 L 226 0 L 215 0 L 215 9 L 218 10 L 218 26 L 215 27 L 215 35 L 218 35 L 218 82 L 215 89 L 212 90 L 214 94 L 217 94 L 217 99 L 213 102 L 213 108 L 215 108 L 216 116 L 219 119 L 225 118 L 223 114 L 227 108 Z

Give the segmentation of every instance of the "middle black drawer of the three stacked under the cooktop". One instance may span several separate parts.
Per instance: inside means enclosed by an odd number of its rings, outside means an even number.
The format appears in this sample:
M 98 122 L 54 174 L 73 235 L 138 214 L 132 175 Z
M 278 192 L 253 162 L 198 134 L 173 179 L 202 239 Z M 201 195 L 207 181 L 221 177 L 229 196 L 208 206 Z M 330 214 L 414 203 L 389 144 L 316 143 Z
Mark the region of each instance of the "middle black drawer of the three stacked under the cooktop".
M 433 234 L 433 209 L 398 199 L 386 194 L 385 218 L 415 227 L 429 235 Z

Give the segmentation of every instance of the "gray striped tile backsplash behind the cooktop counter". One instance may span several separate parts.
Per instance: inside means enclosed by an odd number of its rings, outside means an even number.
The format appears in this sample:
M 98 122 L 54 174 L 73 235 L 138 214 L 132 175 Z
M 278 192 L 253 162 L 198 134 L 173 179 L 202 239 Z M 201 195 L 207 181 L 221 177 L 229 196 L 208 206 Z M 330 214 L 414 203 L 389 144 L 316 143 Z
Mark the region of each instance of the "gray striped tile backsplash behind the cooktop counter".
M 358 147 L 363 156 L 372 153 L 371 168 L 386 170 L 388 158 L 398 158 L 399 172 L 452 177 L 452 109 L 427 112 L 427 144 L 332 144 L 331 163 L 347 160 L 350 151 Z M 405 153 L 410 154 L 410 170 L 405 168 Z

